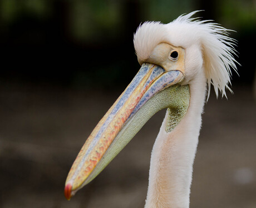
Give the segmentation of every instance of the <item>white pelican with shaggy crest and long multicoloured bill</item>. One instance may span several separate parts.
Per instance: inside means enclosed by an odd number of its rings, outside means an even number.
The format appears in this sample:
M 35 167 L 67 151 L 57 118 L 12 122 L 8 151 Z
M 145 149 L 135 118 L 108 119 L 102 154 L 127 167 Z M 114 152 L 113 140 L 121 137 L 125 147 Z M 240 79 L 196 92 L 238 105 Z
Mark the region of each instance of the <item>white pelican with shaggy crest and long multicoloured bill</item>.
M 65 196 L 93 180 L 157 111 L 167 108 L 151 153 L 145 207 L 189 207 L 205 100 L 226 96 L 237 71 L 228 29 L 182 15 L 145 22 L 134 34 L 139 72 L 87 138 L 67 176 Z M 231 90 L 230 90 L 231 91 Z M 206 98 L 207 97 L 207 98 Z

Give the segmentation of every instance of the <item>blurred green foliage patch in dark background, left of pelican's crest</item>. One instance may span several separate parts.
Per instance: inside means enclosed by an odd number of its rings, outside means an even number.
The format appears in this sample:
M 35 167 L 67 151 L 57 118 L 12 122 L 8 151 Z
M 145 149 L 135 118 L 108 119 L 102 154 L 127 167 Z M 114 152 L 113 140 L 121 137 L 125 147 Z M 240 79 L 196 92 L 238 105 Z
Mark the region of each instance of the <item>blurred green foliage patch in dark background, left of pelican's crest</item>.
M 75 0 L 71 3 L 72 34 L 82 41 L 95 41 L 107 31 L 116 32 L 115 28 L 121 23 L 120 16 L 120 2 Z

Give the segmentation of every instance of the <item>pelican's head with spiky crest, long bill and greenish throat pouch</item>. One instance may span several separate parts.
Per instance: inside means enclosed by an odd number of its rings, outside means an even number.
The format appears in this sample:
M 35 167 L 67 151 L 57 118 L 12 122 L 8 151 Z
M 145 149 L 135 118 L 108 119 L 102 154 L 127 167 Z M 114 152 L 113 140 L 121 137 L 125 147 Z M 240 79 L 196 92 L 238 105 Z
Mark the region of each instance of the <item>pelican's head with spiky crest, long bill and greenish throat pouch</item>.
M 78 153 L 66 180 L 68 200 L 93 180 L 157 111 L 168 108 L 163 131 L 170 133 L 197 100 L 201 100 L 196 106 L 201 116 L 207 84 L 208 97 L 211 85 L 217 96 L 218 90 L 222 96 L 230 90 L 230 73 L 232 68 L 236 70 L 234 40 L 219 24 L 191 18 L 195 13 L 169 24 L 145 22 L 137 28 L 134 46 L 141 68 Z M 192 98 L 198 94 L 200 99 Z

